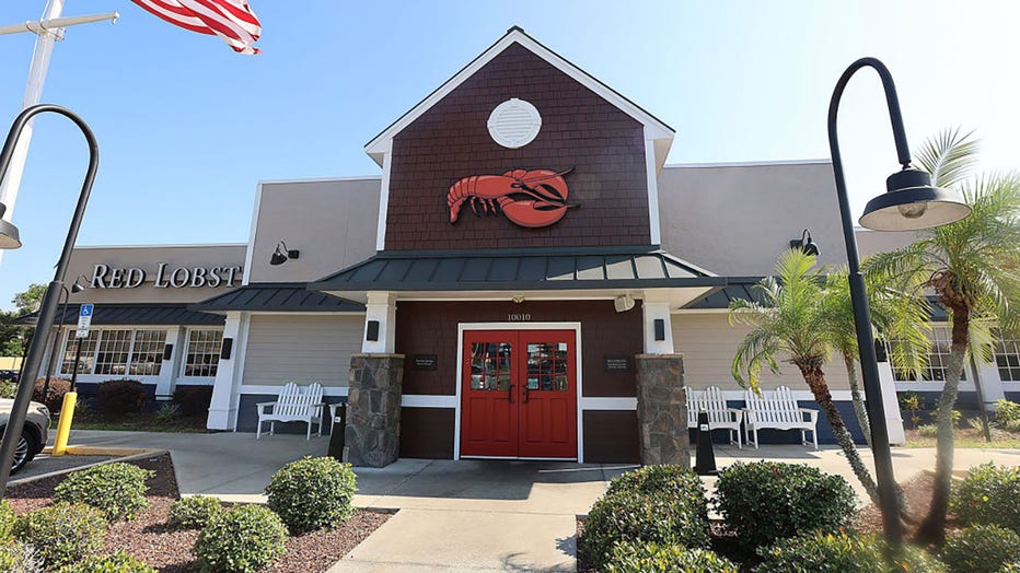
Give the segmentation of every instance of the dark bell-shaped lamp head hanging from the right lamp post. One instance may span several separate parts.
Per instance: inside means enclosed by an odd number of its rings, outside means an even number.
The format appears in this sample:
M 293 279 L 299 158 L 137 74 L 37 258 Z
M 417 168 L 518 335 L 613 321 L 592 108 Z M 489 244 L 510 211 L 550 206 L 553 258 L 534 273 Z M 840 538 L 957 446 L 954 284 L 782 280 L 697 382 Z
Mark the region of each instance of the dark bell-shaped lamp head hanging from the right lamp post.
M 971 208 L 957 191 L 932 187 L 931 176 L 904 168 L 885 179 L 886 192 L 868 201 L 861 226 L 876 231 L 919 231 L 959 221 Z

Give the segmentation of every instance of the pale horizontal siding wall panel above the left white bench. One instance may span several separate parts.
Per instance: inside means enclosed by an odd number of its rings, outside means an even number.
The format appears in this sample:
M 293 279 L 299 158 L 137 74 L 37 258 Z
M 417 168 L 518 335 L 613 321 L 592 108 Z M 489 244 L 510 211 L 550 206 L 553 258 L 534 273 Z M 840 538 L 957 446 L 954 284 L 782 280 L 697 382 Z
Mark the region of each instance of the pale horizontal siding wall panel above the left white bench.
M 350 355 L 361 351 L 363 328 L 363 316 L 254 315 L 242 384 L 347 386 Z

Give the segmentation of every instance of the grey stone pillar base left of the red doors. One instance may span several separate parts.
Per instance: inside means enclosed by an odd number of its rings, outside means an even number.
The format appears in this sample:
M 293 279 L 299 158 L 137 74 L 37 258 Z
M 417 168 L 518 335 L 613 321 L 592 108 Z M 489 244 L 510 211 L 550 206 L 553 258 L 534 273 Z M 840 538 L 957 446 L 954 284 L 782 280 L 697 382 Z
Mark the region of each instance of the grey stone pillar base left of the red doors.
M 344 461 L 381 468 L 401 452 L 404 354 L 352 354 Z

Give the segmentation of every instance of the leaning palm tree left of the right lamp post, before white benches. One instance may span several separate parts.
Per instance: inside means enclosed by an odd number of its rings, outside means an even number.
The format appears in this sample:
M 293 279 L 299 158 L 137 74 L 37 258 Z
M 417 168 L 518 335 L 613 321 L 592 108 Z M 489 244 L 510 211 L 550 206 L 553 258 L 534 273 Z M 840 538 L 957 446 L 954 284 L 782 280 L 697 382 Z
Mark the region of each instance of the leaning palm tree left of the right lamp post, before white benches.
M 836 410 L 825 372 L 834 348 L 835 330 L 826 312 L 824 270 L 815 269 L 815 257 L 801 249 L 790 249 L 776 264 L 777 278 L 766 277 L 755 288 L 763 303 L 734 300 L 730 303 L 730 324 L 751 326 L 751 331 L 737 348 L 733 358 L 733 378 L 741 386 L 758 391 L 764 366 L 779 372 L 779 355 L 798 369 L 808 383 L 815 401 L 822 407 L 836 442 L 843 448 L 854 475 L 868 496 L 878 505 L 878 490 L 868 468 L 854 445 L 854 438 Z M 746 373 L 746 377 L 744 374 Z

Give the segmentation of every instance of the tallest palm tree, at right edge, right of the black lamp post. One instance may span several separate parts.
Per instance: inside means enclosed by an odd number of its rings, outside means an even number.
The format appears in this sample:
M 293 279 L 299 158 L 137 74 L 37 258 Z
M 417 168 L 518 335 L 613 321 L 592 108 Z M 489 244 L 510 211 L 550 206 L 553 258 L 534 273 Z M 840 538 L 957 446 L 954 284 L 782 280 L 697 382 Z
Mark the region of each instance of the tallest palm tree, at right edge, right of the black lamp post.
M 1020 330 L 1020 177 L 970 177 L 976 142 L 948 130 L 926 142 L 916 156 L 939 187 L 954 187 L 971 207 L 966 219 L 923 232 L 913 244 L 872 256 L 866 271 L 885 277 L 923 272 L 922 286 L 934 291 L 951 323 L 946 383 L 939 398 L 938 447 L 931 511 L 918 540 L 941 545 L 952 476 L 952 408 L 969 350 L 990 338 L 993 320 L 1004 332 Z M 981 352 L 981 355 L 986 355 Z

